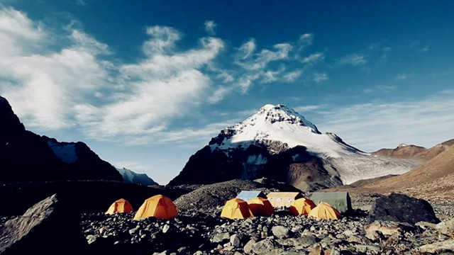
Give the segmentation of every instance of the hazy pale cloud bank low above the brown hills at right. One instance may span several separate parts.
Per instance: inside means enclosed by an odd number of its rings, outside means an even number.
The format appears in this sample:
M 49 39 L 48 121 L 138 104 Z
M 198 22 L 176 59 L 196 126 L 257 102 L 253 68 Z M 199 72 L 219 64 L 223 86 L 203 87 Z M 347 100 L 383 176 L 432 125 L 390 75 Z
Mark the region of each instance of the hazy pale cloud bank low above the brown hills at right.
M 321 111 L 319 128 L 336 132 L 349 145 L 375 151 L 400 143 L 432 147 L 453 139 L 454 91 L 419 101 L 364 103 Z

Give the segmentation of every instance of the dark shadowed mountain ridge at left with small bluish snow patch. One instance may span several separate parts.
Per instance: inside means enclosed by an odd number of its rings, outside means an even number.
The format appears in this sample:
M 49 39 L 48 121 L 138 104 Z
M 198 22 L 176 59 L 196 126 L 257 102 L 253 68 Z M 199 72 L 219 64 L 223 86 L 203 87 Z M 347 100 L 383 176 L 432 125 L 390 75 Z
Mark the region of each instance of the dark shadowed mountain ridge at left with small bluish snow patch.
M 0 96 L 0 183 L 57 180 L 122 181 L 114 166 L 84 142 L 57 142 L 26 130 Z

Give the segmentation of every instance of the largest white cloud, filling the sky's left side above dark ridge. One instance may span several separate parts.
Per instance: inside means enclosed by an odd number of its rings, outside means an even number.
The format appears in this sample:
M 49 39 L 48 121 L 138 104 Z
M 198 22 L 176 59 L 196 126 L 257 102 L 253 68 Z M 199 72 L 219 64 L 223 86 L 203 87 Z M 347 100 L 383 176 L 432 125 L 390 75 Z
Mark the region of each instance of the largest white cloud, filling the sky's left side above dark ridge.
M 198 48 L 178 52 L 177 30 L 151 26 L 145 60 L 114 64 L 98 58 L 111 54 L 109 46 L 82 30 L 52 34 L 69 40 L 60 40 L 61 50 L 50 50 L 48 31 L 37 24 L 0 8 L 0 91 L 28 128 L 72 128 L 95 140 L 150 142 L 175 118 L 226 93 L 201 72 L 223 48 L 218 38 L 201 38 Z

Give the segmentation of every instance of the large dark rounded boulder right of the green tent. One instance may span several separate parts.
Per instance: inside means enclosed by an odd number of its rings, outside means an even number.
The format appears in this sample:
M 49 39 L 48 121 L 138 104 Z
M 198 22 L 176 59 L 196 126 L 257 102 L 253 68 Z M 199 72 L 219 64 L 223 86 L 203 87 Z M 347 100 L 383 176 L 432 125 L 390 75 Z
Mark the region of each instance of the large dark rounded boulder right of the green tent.
M 389 196 L 377 198 L 369 211 L 368 222 L 375 220 L 407 222 L 438 223 L 440 220 L 435 215 L 430 203 L 418 198 L 410 198 L 404 194 L 392 193 Z

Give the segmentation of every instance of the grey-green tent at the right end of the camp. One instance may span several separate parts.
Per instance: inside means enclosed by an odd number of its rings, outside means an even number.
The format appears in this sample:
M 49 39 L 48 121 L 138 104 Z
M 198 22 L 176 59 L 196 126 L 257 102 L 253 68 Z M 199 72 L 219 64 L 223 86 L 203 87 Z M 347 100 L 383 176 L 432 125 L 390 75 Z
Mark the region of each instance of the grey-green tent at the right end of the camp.
M 342 213 L 352 209 L 352 202 L 347 191 L 314 192 L 312 193 L 311 200 L 316 205 L 319 205 L 321 202 L 328 203 Z

